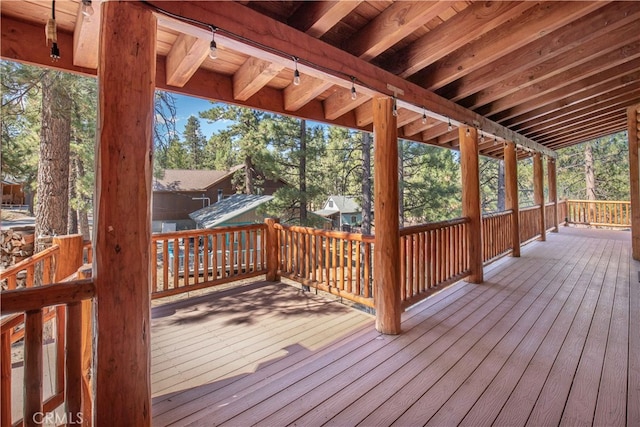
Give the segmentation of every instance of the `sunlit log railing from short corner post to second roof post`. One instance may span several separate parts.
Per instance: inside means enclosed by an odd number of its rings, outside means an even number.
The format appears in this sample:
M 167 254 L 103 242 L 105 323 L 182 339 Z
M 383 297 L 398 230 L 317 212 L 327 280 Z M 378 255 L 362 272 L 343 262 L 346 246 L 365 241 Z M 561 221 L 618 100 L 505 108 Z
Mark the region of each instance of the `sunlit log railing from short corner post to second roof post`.
M 274 224 L 279 274 L 373 307 L 373 236 Z

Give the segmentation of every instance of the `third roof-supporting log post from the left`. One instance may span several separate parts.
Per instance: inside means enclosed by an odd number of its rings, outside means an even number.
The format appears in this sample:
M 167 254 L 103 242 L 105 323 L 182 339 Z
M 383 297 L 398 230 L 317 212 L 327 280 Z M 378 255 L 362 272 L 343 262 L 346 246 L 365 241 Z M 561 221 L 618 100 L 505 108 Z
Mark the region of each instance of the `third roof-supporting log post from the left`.
M 480 202 L 480 166 L 478 130 L 460 126 L 460 169 L 462 172 L 462 216 L 470 219 L 467 241 L 469 248 L 469 282 L 482 283 L 482 210 Z

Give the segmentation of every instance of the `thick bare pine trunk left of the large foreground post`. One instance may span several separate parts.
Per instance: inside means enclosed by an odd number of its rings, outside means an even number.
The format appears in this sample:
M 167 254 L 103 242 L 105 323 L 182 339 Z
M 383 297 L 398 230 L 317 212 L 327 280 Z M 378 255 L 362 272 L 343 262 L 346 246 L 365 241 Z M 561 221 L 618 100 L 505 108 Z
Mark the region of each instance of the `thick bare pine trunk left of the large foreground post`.
M 70 129 L 71 98 L 65 90 L 62 74 L 49 71 L 42 78 L 37 236 L 67 232 Z M 36 251 L 42 249 L 36 247 Z

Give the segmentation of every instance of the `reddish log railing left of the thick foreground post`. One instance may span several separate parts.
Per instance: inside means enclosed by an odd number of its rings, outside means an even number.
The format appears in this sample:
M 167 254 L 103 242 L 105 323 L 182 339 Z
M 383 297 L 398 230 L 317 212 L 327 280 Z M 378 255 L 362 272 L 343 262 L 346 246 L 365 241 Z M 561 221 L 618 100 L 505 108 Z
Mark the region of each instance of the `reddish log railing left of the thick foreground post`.
M 81 391 L 79 391 L 80 388 L 72 385 L 80 381 L 78 376 L 83 376 L 81 370 L 76 369 L 77 366 L 74 365 L 76 359 L 80 360 L 78 357 L 74 359 L 74 356 L 81 351 L 80 341 L 76 335 L 77 329 L 87 324 L 81 317 L 82 311 L 78 312 L 80 303 L 76 305 L 76 301 L 91 298 L 93 284 L 79 282 L 76 286 L 61 282 L 76 277 L 75 272 L 82 264 L 82 253 L 83 242 L 80 235 L 56 237 L 52 247 L 0 273 L 0 280 L 6 281 L 8 288 L 0 294 L 2 312 L 0 425 L 2 427 L 14 424 L 11 404 L 11 350 L 12 345 L 21 339 L 24 340 L 23 424 L 42 424 L 43 420 L 38 418 L 40 416 L 38 414 L 52 413 L 64 402 L 67 402 L 69 410 L 76 408 L 77 396 L 81 395 L 78 394 Z M 53 281 L 60 283 L 51 284 Z M 89 296 L 85 297 L 85 295 Z M 68 305 L 68 310 L 65 305 Z M 45 327 L 45 325 L 51 325 L 51 327 Z M 55 345 L 55 384 L 52 395 L 44 402 L 43 330 L 47 330 L 47 334 L 50 334 Z M 69 331 L 72 331 L 71 334 Z M 85 345 L 85 348 L 88 347 Z M 80 408 L 74 413 L 77 416 L 82 411 L 83 409 Z M 90 416 L 90 407 L 84 409 L 84 414 L 87 417 Z

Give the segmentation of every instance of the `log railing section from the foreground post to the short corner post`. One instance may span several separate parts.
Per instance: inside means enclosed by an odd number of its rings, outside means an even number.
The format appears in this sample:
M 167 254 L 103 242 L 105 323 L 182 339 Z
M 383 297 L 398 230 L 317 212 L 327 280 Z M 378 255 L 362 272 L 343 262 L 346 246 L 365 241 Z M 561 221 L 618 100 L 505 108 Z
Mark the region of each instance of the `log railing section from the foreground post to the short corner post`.
M 265 224 L 154 234 L 151 297 L 266 273 Z

